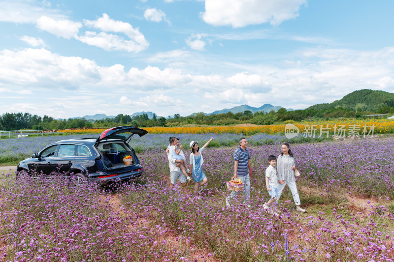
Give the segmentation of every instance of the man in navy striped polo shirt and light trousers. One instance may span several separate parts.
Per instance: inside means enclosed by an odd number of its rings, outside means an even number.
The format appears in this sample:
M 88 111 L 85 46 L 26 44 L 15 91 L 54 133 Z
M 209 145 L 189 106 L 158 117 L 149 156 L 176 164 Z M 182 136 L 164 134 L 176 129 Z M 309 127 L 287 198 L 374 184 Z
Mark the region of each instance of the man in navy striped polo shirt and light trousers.
M 245 183 L 243 187 L 244 200 L 243 204 L 247 204 L 250 199 L 250 177 L 252 175 L 252 166 L 250 164 L 250 155 L 248 149 L 248 141 L 243 137 L 239 142 L 239 147 L 234 151 L 234 178 L 241 179 Z M 248 172 L 249 170 L 249 172 Z M 241 191 L 231 191 L 230 196 L 226 198 L 226 205 L 230 206 L 231 201 Z M 247 204 L 250 208 L 250 204 Z

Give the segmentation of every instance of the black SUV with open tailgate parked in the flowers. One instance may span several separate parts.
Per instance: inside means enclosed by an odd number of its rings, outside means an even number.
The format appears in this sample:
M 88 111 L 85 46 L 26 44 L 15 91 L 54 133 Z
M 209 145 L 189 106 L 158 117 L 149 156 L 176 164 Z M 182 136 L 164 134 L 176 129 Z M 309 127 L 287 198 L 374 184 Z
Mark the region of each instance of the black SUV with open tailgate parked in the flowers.
M 147 133 L 137 127 L 118 126 L 105 130 L 97 139 L 61 140 L 19 162 L 16 171 L 19 175 L 73 175 L 77 183 L 94 181 L 102 186 L 139 177 L 142 167 L 129 142 L 134 134 L 141 137 Z M 127 164 L 123 161 L 126 156 Z

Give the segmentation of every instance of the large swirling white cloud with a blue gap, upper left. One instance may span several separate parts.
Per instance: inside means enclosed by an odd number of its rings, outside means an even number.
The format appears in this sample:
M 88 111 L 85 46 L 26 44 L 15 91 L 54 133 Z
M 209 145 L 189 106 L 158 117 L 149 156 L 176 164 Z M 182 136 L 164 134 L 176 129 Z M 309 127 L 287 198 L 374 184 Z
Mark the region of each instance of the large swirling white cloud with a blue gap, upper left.
M 84 24 L 103 31 L 99 33 L 86 31 L 85 35 L 77 37 L 78 40 L 88 45 L 97 46 L 106 51 L 124 50 L 135 53 L 149 47 L 148 41 L 145 40 L 144 35 L 138 29 L 134 29 L 129 23 L 115 21 L 107 14 L 102 14 L 102 17 L 95 21 L 84 20 Z M 124 33 L 130 40 L 105 32 Z

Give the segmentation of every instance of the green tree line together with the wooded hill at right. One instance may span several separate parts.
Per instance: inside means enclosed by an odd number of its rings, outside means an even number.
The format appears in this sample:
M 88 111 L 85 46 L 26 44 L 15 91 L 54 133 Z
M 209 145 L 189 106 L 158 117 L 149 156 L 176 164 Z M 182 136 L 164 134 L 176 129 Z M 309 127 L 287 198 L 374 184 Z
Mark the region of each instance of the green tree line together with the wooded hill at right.
M 50 116 L 37 116 L 29 113 L 5 113 L 0 116 L 0 130 L 19 129 L 67 129 L 97 127 L 106 128 L 117 125 L 131 125 L 140 127 L 151 126 L 179 126 L 186 124 L 231 125 L 239 123 L 273 124 L 287 120 L 302 121 L 309 118 L 335 119 L 340 117 L 357 118 L 369 114 L 394 114 L 394 94 L 371 89 L 361 89 L 345 95 L 342 99 L 332 103 L 317 104 L 307 109 L 287 111 L 284 108 L 269 113 L 244 111 L 239 113 L 205 115 L 197 113 L 191 116 L 161 116 L 153 114 L 149 118 L 144 113 L 139 116 L 119 114 L 114 118 L 100 120 L 87 119 L 53 119 Z

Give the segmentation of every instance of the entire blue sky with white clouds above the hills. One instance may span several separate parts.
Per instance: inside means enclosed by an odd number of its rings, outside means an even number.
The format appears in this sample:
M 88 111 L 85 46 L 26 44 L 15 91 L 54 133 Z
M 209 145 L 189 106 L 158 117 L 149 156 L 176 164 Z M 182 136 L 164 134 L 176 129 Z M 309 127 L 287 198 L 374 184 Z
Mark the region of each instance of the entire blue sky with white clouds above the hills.
M 394 1 L 0 1 L 0 114 L 302 109 L 394 91 Z

